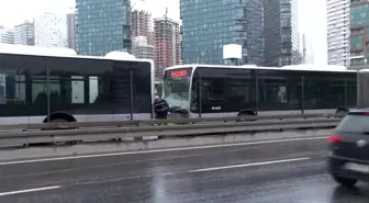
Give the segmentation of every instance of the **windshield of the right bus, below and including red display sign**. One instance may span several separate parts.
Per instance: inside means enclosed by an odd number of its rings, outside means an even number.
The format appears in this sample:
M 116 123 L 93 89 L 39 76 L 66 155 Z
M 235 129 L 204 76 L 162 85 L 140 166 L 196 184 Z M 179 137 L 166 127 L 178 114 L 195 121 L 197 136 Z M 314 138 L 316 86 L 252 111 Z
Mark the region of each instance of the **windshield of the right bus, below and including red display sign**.
M 170 108 L 189 108 L 190 79 L 190 69 L 166 71 L 164 78 L 164 99 Z

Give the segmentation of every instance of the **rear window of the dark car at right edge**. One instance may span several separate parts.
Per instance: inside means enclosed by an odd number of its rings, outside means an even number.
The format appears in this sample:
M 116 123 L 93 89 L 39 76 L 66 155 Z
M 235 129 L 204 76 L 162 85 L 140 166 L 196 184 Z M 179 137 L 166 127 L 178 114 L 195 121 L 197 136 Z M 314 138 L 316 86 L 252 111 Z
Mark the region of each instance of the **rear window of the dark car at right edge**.
M 368 133 L 369 115 L 348 114 L 336 127 L 336 131 L 346 133 Z

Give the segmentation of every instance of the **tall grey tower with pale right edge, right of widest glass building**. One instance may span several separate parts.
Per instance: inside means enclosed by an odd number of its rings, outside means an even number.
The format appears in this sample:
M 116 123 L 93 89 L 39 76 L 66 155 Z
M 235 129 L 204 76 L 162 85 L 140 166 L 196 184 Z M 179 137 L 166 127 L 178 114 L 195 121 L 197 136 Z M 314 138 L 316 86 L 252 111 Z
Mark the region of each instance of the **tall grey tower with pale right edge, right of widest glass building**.
M 298 0 L 262 0 L 265 66 L 299 64 Z

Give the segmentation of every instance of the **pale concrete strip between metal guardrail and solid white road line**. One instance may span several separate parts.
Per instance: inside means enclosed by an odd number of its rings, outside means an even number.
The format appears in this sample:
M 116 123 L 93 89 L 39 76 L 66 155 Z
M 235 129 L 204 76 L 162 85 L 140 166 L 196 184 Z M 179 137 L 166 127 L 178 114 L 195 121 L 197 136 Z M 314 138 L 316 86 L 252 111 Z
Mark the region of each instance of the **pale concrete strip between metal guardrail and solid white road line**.
M 75 157 L 82 155 L 135 153 L 159 149 L 175 149 L 178 147 L 203 147 L 226 144 L 242 144 L 261 140 L 283 140 L 294 138 L 318 138 L 329 135 L 332 129 L 308 129 L 284 132 L 259 132 L 234 135 L 212 135 L 200 137 L 170 137 L 166 139 L 121 142 L 121 143 L 83 143 L 74 146 L 49 146 L 3 149 L 0 153 L 0 165 L 5 161 L 40 159 L 52 157 Z M 245 146 L 247 147 L 247 146 Z M 150 151 L 153 153 L 153 151 Z M 130 154 L 127 154 L 128 156 Z

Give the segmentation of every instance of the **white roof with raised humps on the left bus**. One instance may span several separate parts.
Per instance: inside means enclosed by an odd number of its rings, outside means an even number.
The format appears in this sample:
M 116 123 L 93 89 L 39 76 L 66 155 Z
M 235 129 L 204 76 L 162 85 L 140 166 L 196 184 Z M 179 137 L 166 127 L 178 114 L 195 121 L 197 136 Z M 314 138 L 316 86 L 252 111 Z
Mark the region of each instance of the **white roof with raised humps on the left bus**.
M 136 58 L 126 52 L 116 52 L 116 50 L 110 52 L 105 56 L 87 56 L 87 55 L 77 55 L 76 50 L 65 47 L 40 47 L 40 46 L 13 45 L 13 44 L 0 43 L 0 54 L 86 58 L 86 59 L 111 59 L 111 60 L 127 60 L 127 61 L 149 61 L 152 63 L 152 65 L 154 65 L 153 59 Z

